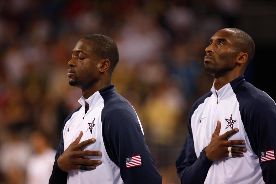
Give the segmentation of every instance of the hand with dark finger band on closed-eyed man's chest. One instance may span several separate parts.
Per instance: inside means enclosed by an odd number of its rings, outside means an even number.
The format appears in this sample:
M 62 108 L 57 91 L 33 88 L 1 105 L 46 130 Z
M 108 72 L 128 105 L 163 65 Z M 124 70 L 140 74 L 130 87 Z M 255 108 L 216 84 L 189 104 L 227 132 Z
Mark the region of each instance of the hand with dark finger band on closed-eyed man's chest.
M 81 143 L 81 137 L 83 136 L 83 132 L 81 131 L 78 138 L 72 142 L 69 147 L 58 157 L 57 166 L 66 172 L 78 170 L 81 165 L 86 165 L 87 170 L 93 170 L 96 168 L 95 165 L 101 164 L 101 160 L 90 160 L 84 159 L 84 156 L 101 156 L 101 152 L 98 151 L 81 151 L 81 148 L 89 145 L 91 143 L 95 143 L 96 139 L 88 139 Z

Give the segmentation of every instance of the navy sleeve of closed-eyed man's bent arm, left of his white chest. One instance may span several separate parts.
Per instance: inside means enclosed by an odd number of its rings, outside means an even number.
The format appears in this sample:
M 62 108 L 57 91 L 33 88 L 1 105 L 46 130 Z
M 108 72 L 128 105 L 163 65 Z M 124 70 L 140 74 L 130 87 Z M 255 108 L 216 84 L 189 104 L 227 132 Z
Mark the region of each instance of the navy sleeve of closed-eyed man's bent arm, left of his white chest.
M 76 109 L 74 112 L 78 111 L 80 108 L 81 107 Z M 67 173 L 68 172 L 65 172 L 65 171 L 61 170 L 57 166 L 57 158 L 64 152 L 63 129 L 64 129 L 64 126 L 65 126 L 65 123 L 71 118 L 71 116 L 74 112 L 69 114 L 69 116 L 67 116 L 67 118 L 64 120 L 63 128 L 62 128 L 61 135 L 60 135 L 60 145 L 58 146 L 57 153 L 55 154 L 55 162 L 54 162 L 54 165 L 53 165 L 53 170 L 52 170 L 51 177 L 49 179 L 49 184 L 66 184 L 67 183 Z

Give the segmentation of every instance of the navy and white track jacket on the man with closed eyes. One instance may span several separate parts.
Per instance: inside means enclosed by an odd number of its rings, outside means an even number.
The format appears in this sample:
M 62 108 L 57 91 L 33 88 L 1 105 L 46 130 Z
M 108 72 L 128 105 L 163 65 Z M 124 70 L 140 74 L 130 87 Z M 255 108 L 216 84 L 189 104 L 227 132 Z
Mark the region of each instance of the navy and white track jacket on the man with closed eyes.
M 110 85 L 88 99 L 81 97 L 81 107 L 66 118 L 49 183 L 162 183 L 135 110 L 114 90 L 114 85 Z M 86 113 L 85 101 L 89 104 Z M 85 158 L 101 160 L 102 164 L 95 170 L 64 172 L 58 168 L 57 158 L 80 131 L 80 142 L 96 139 L 83 150 L 102 152 L 101 156 Z M 141 158 L 141 163 L 132 156 Z

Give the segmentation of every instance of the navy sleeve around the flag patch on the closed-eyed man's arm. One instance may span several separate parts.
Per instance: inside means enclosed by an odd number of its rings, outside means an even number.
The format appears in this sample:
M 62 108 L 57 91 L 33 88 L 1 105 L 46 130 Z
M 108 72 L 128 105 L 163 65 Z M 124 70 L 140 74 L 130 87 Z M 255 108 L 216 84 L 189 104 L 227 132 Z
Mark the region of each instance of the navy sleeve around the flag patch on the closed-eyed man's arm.
M 134 110 L 122 108 L 110 110 L 102 117 L 102 124 L 106 151 L 110 159 L 120 167 L 124 183 L 162 183 L 162 176 L 158 173 L 145 143 Z M 127 168 L 126 158 L 135 155 L 141 156 L 142 165 Z

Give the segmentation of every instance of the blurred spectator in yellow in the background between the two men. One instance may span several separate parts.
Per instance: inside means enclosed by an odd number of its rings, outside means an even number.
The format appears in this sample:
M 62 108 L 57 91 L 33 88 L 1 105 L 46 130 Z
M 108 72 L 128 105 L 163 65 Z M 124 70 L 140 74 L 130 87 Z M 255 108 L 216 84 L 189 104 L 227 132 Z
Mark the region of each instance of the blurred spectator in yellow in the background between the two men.
M 185 111 L 185 101 L 179 88 L 164 79 L 148 97 L 144 106 L 144 123 L 151 132 L 151 142 L 157 145 L 170 145 L 175 138 L 175 132 Z

